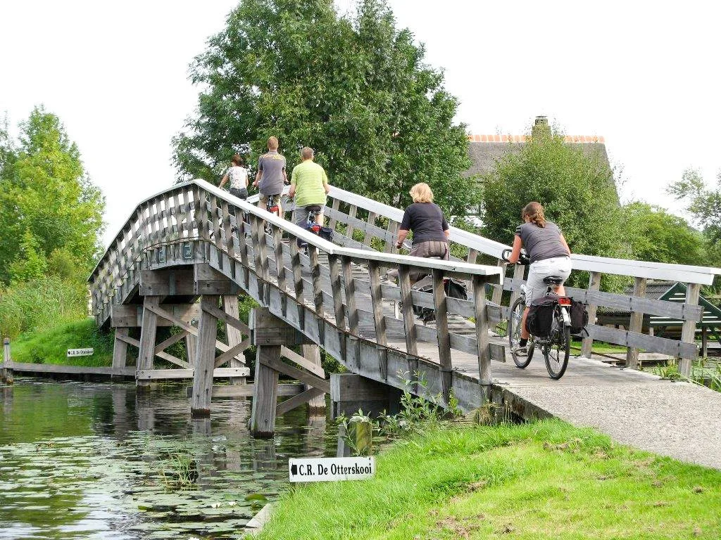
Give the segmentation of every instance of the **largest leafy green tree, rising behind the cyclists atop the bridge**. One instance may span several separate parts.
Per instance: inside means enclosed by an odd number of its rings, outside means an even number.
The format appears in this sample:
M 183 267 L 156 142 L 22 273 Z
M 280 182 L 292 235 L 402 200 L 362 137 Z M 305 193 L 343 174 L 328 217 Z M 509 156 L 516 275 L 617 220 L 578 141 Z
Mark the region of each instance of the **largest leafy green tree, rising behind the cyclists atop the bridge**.
M 464 215 L 479 197 L 461 175 L 465 128 L 424 55 L 384 0 L 360 0 L 348 17 L 332 0 L 242 0 L 191 66 L 203 91 L 174 163 L 182 178 L 216 179 L 233 153 L 255 163 L 276 135 L 289 167 L 309 145 L 335 186 L 404 205 L 425 181 Z

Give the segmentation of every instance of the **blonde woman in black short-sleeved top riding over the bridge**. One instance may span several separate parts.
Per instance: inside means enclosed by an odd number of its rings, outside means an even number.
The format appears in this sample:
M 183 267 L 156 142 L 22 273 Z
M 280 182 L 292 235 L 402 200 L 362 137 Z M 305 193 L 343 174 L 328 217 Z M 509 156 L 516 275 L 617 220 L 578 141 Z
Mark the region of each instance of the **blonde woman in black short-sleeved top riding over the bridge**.
M 414 257 L 438 257 L 448 261 L 448 235 L 450 229 L 443 217 L 443 210 L 433 202 L 433 192 L 428 184 L 415 184 L 410 189 L 413 204 L 406 208 L 398 231 L 396 248 L 400 249 L 408 232 L 413 231 L 410 255 Z M 388 276 L 397 276 L 397 270 L 389 270 Z M 411 281 L 420 279 L 418 272 L 411 272 Z

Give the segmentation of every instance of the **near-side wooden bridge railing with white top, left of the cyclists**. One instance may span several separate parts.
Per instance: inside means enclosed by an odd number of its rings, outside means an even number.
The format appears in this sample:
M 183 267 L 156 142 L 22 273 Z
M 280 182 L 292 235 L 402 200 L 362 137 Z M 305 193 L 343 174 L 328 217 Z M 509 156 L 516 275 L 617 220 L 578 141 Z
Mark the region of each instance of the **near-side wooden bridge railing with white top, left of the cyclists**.
M 244 220 L 236 219 L 241 216 Z M 266 224 L 272 233 L 266 233 Z M 298 241 L 307 244 L 307 254 Z M 108 320 L 111 304 L 128 302 L 138 293 L 143 269 L 198 262 L 210 263 L 331 350 L 328 340 L 335 338 L 324 330 L 331 327 L 361 340 L 373 337 L 383 350 L 400 349 L 411 378 L 427 364 L 419 343 L 435 344 L 429 356 L 438 359 L 442 377 L 438 387 L 428 391 L 442 391 L 446 398 L 454 377 L 463 377 L 453 373 L 452 348 L 477 357 L 485 384 L 490 383 L 490 359 L 505 361 L 503 347 L 489 343 L 487 332 L 489 317 L 500 317 L 485 297 L 486 285 L 500 285 L 503 279 L 497 266 L 339 246 L 202 180 L 172 186 L 138 204 L 89 277 L 97 322 Z M 397 269 L 398 286 L 381 279 L 387 269 Z M 413 271 L 433 276 L 433 292 L 411 289 Z M 446 297 L 448 276 L 469 282 L 474 300 Z M 402 302 L 401 318 L 388 313 L 386 300 Z M 414 305 L 432 308 L 435 325 L 417 321 Z M 314 320 L 305 315 L 309 307 Z M 474 336 L 449 328 L 452 313 L 475 319 Z M 390 335 L 401 336 L 402 342 L 392 342 Z M 358 362 L 361 374 L 368 369 L 361 359 L 343 356 L 341 360 Z M 387 373 L 387 365 L 379 366 L 382 379 L 394 376 Z

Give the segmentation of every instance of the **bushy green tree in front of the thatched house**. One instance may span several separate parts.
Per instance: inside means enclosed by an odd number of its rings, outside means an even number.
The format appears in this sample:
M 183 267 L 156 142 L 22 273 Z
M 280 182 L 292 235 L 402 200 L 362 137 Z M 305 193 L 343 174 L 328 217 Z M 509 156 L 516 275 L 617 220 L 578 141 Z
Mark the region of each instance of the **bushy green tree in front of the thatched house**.
M 573 253 L 627 257 L 629 235 L 623 225 L 613 172 L 600 156 L 565 143 L 560 132 L 538 130 L 518 153 L 508 153 L 483 178 L 483 233 L 510 244 L 521 223 L 521 209 L 543 204 Z M 580 284 L 580 276 L 572 276 Z

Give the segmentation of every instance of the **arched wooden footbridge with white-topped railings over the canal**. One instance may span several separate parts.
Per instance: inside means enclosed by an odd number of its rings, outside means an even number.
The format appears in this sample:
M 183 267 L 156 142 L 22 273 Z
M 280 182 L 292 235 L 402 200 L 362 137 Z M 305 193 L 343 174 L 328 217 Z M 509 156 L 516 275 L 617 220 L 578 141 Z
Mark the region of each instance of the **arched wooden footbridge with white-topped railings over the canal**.
M 498 383 L 512 382 L 514 374 L 526 385 L 528 377 L 548 384 L 543 374 L 501 364 L 505 346 L 492 330 L 505 320 L 508 307 L 502 301 L 515 300 L 524 270 L 514 266 L 513 275 L 505 276 L 500 255 L 507 246 L 451 228 L 453 251 L 465 253 L 465 260 L 394 253 L 402 210 L 337 188 L 329 199 L 332 243 L 203 180 L 177 184 L 138 204 L 89 278 L 97 324 L 115 328 L 113 369 L 127 369 L 127 348 L 134 346 L 138 387 L 154 379 L 193 377 L 194 415 L 207 415 L 212 397 L 252 395 L 252 431 L 261 436 L 273 433 L 275 415 L 312 405 L 329 392 L 319 347 L 349 372 L 389 387 L 402 388 L 410 380 L 416 392 L 441 395 L 446 402 L 452 392 L 465 410 L 490 399 L 494 388 L 503 387 Z M 296 240 L 307 249 L 299 249 Z M 710 284 L 720 269 L 583 255 L 572 261 L 574 269 L 590 274 L 588 289 L 567 289 L 588 303 L 590 320 L 599 306 L 632 312 L 624 330 L 589 325 L 584 356 L 598 339 L 626 346 L 629 367 L 637 366 L 643 349 L 678 357 L 688 371 L 702 316 L 699 285 Z M 388 269 L 399 271 L 398 285 L 382 279 Z M 412 289 L 410 274 L 418 269 L 433 276 L 433 292 Z M 602 274 L 632 276 L 634 294 L 602 292 Z M 448 276 L 468 284 L 469 300 L 446 297 Z M 647 279 L 688 284 L 686 301 L 645 298 Z M 260 305 L 249 325 L 239 320 L 239 295 Z M 433 308 L 435 323 L 417 320 L 414 305 Z M 644 313 L 683 320 L 681 340 L 641 333 Z M 227 343 L 218 341 L 218 321 L 228 328 Z M 179 331 L 156 343 L 159 325 Z M 134 327 L 141 329 L 139 339 L 130 337 Z M 183 339 L 188 361 L 165 351 Z M 253 384 L 246 384 L 242 353 L 251 345 L 257 346 L 256 367 Z M 293 346 L 301 346 L 302 354 Z M 173 368 L 155 369 L 155 359 Z M 565 380 L 580 377 L 574 365 Z M 278 384 L 279 374 L 299 383 Z M 229 377 L 231 386 L 213 387 L 213 377 Z M 416 377 L 425 384 L 415 384 Z M 278 395 L 290 397 L 278 402 Z

